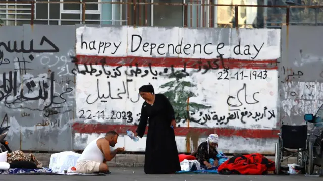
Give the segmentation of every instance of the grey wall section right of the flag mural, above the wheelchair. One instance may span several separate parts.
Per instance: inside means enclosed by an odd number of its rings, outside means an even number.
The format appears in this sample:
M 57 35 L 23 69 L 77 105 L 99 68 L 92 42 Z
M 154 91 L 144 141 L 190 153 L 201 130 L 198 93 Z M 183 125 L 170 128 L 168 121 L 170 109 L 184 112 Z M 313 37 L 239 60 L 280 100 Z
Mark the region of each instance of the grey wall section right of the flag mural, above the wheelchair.
M 323 104 L 323 42 L 317 38 L 322 30 L 319 26 L 282 28 L 278 79 L 283 124 L 305 124 L 304 114 L 315 114 Z

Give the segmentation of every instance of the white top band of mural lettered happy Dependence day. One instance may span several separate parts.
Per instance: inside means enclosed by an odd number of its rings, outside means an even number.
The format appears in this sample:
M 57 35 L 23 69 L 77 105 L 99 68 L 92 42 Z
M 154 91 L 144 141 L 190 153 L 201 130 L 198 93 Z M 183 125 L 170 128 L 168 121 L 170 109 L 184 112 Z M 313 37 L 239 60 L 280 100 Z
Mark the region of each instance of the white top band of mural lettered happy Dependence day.
M 79 27 L 76 29 L 76 54 L 78 55 L 99 55 L 99 56 L 140 56 L 140 57 L 181 57 L 181 58 L 216 58 L 217 44 L 219 42 L 212 42 L 212 37 L 217 37 L 221 34 L 223 29 L 213 29 L 212 34 L 209 33 L 208 29 L 193 29 L 193 28 L 179 28 L 179 27 Z M 239 29 L 236 32 L 235 29 L 230 29 L 232 32 L 228 37 L 221 37 L 227 39 L 229 44 L 225 44 L 223 48 L 219 49 L 219 52 L 223 55 L 223 58 L 236 58 L 236 59 L 253 59 L 257 54 L 257 50 L 254 48 L 255 45 L 258 49 L 263 44 L 259 54 L 255 60 L 263 59 L 277 59 L 280 57 L 280 30 L 279 29 Z M 140 48 L 131 52 L 131 46 L 138 47 L 139 39 L 132 35 L 140 35 L 142 37 L 142 43 Z M 89 44 L 91 41 L 95 41 L 95 49 L 85 49 L 81 46 L 81 38 L 83 41 Z M 219 37 L 218 37 L 219 38 Z M 235 55 L 233 53 L 234 46 L 238 44 L 239 38 L 241 39 L 241 47 L 250 45 L 251 55 Z M 149 49 L 151 43 L 156 44 L 156 48 L 145 52 L 142 50 L 144 43 L 149 43 L 149 46 L 145 49 Z M 174 44 L 178 45 L 182 42 L 182 52 L 186 44 L 202 44 L 206 45 L 206 52 L 213 52 L 211 55 L 205 53 L 195 52 L 193 54 L 193 47 L 187 49 L 186 52 L 190 53 L 186 55 L 184 53 L 170 53 L 165 55 L 159 55 L 157 48 L 160 44 Z M 104 45 L 111 45 L 104 50 Z M 101 48 L 99 48 L 101 45 Z M 220 46 L 222 47 L 222 46 Z M 219 47 L 219 48 L 220 48 Z M 165 53 L 167 51 L 166 45 L 160 49 L 160 52 Z M 112 54 L 114 53 L 114 54 Z

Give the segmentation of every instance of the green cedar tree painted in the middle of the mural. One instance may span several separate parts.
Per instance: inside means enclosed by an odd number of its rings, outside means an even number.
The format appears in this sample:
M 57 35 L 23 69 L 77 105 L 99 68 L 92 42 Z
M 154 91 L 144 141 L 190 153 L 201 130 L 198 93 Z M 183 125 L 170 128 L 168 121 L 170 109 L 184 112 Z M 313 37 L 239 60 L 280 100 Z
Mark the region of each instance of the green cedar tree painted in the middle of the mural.
M 187 110 L 187 99 L 190 97 L 196 97 L 196 95 L 192 91 L 192 88 L 196 85 L 194 85 L 192 82 L 181 80 L 186 76 L 187 75 L 182 71 L 176 71 L 170 76 L 168 76 L 168 78 L 175 78 L 175 80 L 167 82 L 160 86 L 160 88 L 167 88 L 167 91 L 163 94 L 169 99 L 169 101 L 173 105 L 175 117 L 178 117 L 176 122 L 179 122 L 179 119 L 185 118 Z M 211 108 L 211 106 L 206 106 L 195 102 L 189 102 L 189 111 L 196 112 L 200 109 L 208 108 Z

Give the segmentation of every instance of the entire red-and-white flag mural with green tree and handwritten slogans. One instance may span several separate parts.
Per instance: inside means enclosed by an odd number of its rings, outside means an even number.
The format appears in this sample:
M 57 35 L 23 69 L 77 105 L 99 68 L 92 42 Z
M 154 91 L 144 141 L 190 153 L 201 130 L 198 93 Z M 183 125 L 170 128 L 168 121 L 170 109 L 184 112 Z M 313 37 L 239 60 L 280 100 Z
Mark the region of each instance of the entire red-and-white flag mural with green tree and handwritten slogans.
M 73 126 L 74 144 L 84 147 L 84 135 L 92 133 L 95 138 L 111 129 L 135 130 L 144 102 L 138 88 L 151 84 L 175 109 L 180 152 L 214 132 L 228 152 L 270 151 L 249 145 L 276 133 L 277 58 L 280 30 L 275 29 L 78 27 L 74 72 L 80 121 Z M 118 142 L 129 151 L 145 149 L 145 139 Z

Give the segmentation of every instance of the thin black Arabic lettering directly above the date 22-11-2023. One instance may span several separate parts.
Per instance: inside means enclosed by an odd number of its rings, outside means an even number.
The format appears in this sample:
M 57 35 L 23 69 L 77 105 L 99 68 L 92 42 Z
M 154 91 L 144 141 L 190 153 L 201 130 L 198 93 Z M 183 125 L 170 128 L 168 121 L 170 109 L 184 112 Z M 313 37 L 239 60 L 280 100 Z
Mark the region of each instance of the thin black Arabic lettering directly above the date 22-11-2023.
M 99 79 L 96 79 L 96 95 L 89 94 L 86 98 L 87 104 L 94 104 L 97 100 L 100 99 L 101 102 L 107 102 L 106 99 L 123 99 L 121 95 L 126 94 L 127 99 L 130 99 L 131 102 L 135 103 L 139 101 L 139 94 L 138 97 L 133 100 L 132 98 L 129 98 L 129 82 L 132 82 L 132 79 L 126 79 L 126 81 L 122 81 L 122 88 L 118 88 L 117 91 L 120 91 L 117 93 L 116 96 L 113 96 L 113 92 L 111 91 L 111 83 L 110 81 L 107 81 L 107 87 L 105 87 L 102 83 L 99 82 Z M 103 86 L 102 86 L 103 85 Z M 116 85 L 114 85 L 116 87 Z M 103 91 L 104 90 L 104 91 Z M 122 91 L 121 91 L 122 90 Z M 101 92 L 104 92 L 103 94 Z M 104 100 L 102 100 L 104 99 Z

